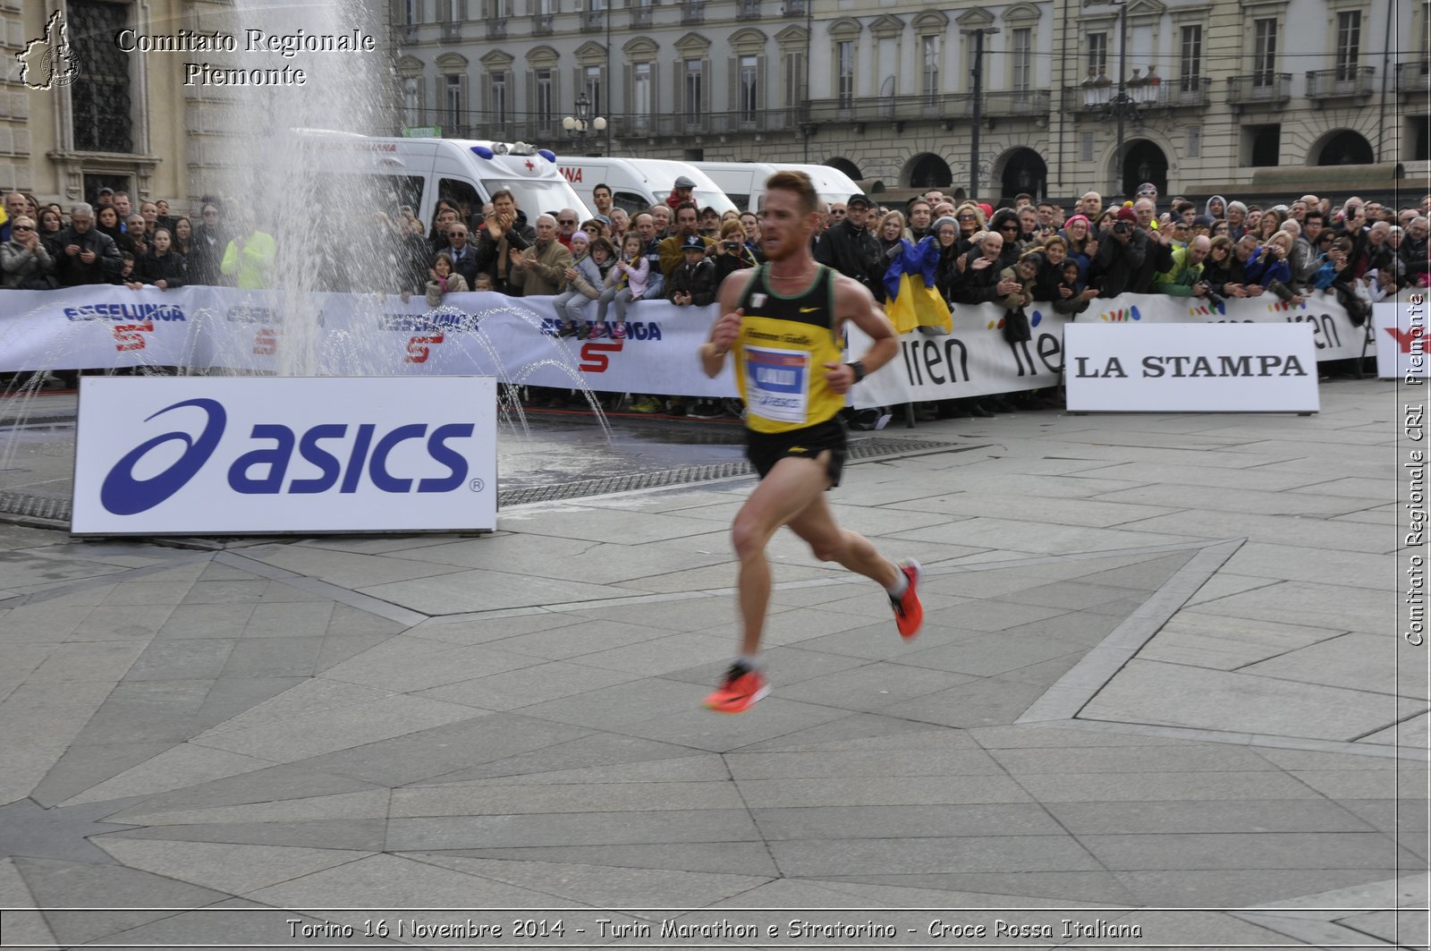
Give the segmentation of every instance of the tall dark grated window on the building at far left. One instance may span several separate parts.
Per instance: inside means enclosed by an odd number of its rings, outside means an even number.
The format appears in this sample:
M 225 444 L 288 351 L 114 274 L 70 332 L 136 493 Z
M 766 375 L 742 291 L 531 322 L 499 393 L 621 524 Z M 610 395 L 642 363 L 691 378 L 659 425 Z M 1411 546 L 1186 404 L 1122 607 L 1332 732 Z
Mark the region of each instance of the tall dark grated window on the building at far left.
M 70 0 L 69 37 L 82 64 L 70 103 L 74 148 L 80 152 L 133 152 L 130 59 L 110 37 L 124 29 L 129 4 Z

